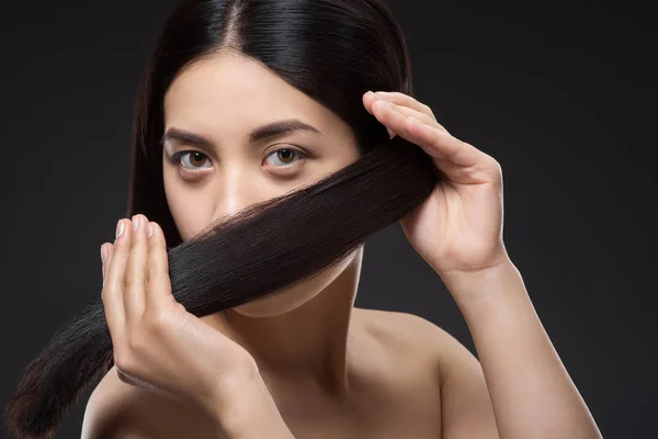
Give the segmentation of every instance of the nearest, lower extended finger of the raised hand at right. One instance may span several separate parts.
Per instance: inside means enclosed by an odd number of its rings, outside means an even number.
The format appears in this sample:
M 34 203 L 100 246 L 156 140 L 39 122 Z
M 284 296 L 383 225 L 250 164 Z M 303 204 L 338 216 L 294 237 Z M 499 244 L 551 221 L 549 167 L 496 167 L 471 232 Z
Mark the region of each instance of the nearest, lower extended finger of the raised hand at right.
M 485 154 L 473 145 L 457 139 L 436 126 L 430 126 L 399 112 L 396 105 L 386 101 L 373 103 L 373 113 L 384 125 L 390 127 L 405 139 L 417 144 L 436 159 L 447 159 L 460 166 L 474 166 L 481 162 Z

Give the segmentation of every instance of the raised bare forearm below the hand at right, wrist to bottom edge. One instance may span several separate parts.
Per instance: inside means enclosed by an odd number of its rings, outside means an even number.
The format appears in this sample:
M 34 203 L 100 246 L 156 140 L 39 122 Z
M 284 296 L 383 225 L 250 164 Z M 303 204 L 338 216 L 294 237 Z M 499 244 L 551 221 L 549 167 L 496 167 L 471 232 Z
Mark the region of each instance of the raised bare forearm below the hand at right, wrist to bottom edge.
M 473 336 L 500 438 L 601 438 L 513 263 L 442 279 Z

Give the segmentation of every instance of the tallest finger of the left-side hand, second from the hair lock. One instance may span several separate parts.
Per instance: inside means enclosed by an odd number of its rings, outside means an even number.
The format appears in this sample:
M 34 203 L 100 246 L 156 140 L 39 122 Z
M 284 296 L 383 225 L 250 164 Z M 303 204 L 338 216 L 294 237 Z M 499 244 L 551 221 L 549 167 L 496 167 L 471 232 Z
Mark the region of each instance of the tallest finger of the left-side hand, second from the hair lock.
M 129 254 L 124 277 L 124 308 L 127 325 L 139 322 L 146 304 L 145 270 L 148 252 L 146 224 L 148 219 L 141 214 L 134 215 L 131 222 Z

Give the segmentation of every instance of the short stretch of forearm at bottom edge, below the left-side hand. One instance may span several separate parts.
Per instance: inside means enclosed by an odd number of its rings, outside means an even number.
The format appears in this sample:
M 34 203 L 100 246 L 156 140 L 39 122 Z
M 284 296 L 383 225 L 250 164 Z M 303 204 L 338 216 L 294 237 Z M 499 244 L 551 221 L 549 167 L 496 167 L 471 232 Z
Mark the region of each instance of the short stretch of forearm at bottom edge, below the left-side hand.
M 218 432 L 229 439 L 294 439 L 260 376 L 236 387 L 234 396 L 212 410 Z

